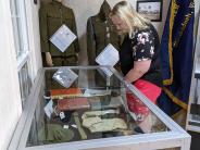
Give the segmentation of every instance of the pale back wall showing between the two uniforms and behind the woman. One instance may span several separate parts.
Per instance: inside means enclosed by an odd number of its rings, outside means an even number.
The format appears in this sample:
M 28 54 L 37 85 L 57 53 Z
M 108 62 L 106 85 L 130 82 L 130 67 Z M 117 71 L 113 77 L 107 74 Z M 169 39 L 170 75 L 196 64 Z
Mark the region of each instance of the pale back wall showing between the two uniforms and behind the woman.
M 115 3 L 122 0 L 107 0 L 111 8 L 114 7 Z M 137 0 L 129 0 L 134 8 L 136 8 Z M 80 47 L 80 64 L 87 64 L 87 43 L 86 43 L 86 24 L 88 17 L 96 15 L 99 12 L 99 9 L 102 4 L 103 0 L 63 0 L 63 4 L 73 9 L 76 26 L 79 37 Z M 163 0 L 163 21 L 165 21 L 167 8 L 170 0 Z M 155 28 L 158 29 L 159 36 L 161 37 L 163 30 L 163 22 L 153 23 Z

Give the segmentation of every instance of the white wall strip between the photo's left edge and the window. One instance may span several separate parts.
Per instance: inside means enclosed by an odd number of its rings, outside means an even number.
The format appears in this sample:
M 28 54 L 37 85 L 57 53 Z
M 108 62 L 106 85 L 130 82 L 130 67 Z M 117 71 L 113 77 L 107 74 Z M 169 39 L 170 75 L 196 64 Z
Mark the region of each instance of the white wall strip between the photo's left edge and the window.
M 9 145 L 21 115 L 10 1 L 0 1 L 0 150 Z

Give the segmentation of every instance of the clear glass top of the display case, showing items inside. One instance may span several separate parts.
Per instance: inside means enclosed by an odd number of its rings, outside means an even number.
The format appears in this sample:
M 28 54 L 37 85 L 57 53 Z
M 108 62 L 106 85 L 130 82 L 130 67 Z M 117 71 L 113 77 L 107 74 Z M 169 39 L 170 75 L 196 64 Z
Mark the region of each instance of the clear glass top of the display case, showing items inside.
M 170 130 L 125 86 L 118 73 L 110 76 L 102 68 L 70 68 L 75 79 L 64 78 L 63 72 L 58 77 L 61 80 L 53 76 L 63 70 L 46 70 L 35 98 L 27 147 Z M 68 87 L 62 84 L 66 80 L 73 80 Z M 129 111 L 132 100 L 132 107 L 142 113 Z

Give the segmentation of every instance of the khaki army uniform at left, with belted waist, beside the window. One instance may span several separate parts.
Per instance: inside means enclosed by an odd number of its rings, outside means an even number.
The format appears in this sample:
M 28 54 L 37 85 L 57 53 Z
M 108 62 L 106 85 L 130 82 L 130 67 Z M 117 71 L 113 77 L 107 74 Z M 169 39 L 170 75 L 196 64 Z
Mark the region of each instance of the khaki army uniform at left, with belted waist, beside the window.
M 54 66 L 76 65 L 77 52 L 79 52 L 78 40 L 61 52 L 49 38 L 65 24 L 75 35 L 77 35 L 73 10 L 52 1 L 41 5 L 39 10 L 40 40 L 43 65 L 46 66 L 45 53 L 50 52 Z

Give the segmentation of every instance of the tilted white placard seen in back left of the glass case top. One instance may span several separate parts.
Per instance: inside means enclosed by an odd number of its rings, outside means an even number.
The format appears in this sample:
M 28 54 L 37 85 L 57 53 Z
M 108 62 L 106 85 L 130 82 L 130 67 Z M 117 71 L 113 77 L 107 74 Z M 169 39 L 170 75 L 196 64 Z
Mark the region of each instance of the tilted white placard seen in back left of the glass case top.
M 78 76 L 70 68 L 59 68 L 53 74 L 53 79 L 66 88 L 68 88 L 77 77 Z

